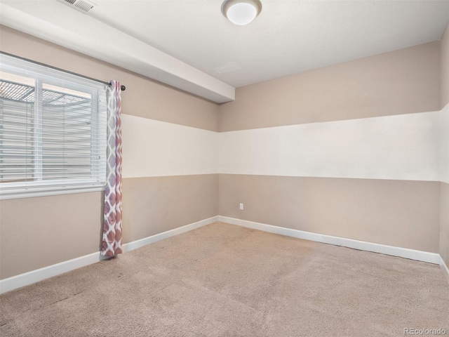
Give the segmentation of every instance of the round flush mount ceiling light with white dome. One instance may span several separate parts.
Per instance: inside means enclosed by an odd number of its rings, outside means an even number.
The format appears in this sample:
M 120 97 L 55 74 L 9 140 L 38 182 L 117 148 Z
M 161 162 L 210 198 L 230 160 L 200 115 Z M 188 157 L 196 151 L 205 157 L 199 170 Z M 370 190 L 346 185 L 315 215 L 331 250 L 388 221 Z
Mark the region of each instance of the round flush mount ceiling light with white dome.
M 259 0 L 226 0 L 222 5 L 222 13 L 235 25 L 248 25 L 262 11 Z

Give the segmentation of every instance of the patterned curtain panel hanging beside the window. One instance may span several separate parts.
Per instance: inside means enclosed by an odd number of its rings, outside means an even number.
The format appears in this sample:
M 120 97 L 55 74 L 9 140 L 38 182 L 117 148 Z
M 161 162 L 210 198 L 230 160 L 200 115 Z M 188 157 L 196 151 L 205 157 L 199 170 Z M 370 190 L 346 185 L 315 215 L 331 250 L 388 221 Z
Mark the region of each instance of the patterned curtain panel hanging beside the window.
M 107 169 L 105 224 L 101 255 L 114 256 L 121 248 L 121 87 L 111 81 L 107 90 Z

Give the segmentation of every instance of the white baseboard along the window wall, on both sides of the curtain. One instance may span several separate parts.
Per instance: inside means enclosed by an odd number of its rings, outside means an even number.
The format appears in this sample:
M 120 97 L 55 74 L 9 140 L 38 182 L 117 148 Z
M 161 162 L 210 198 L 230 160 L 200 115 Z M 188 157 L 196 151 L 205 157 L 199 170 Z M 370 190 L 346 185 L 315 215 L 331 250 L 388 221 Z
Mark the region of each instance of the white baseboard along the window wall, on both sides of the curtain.
M 158 242 L 162 239 L 167 239 L 168 237 L 173 237 L 177 234 L 188 232 L 189 230 L 194 230 L 210 223 L 215 223 L 215 221 L 217 220 L 218 216 L 214 216 L 213 218 L 208 218 L 196 223 L 191 223 L 189 225 L 175 228 L 174 230 L 168 230 L 167 232 L 152 235 L 151 237 L 145 237 L 145 239 L 140 239 L 128 244 L 123 244 L 123 253 L 132 251 L 133 249 L 138 249 L 140 247 L 146 246 L 147 244 L 152 244 L 153 242 Z M 74 258 L 72 260 L 67 260 L 61 263 L 56 263 L 55 265 L 49 265 L 48 267 L 32 270 L 31 272 L 25 272 L 20 275 L 8 277 L 8 279 L 0 280 L 0 293 L 6 293 L 7 291 L 18 289 L 22 286 L 27 286 L 29 284 L 42 281 L 43 279 L 48 279 L 49 277 L 57 276 L 65 272 L 69 272 L 86 265 L 91 265 L 105 259 L 107 258 L 101 256 L 100 252 L 98 251 L 86 256 L 81 256 L 79 258 Z

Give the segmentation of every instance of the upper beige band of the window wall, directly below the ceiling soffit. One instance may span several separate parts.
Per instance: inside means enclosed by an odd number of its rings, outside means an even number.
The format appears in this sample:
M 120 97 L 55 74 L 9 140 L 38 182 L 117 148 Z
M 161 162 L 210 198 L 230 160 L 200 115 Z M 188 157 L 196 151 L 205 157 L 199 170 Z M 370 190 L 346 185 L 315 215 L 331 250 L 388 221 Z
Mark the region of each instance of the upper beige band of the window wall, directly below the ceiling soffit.
M 102 81 L 120 81 L 126 86 L 121 96 L 123 114 L 211 131 L 218 129 L 218 105 L 215 103 L 9 27 L 0 26 L 0 41 L 0 49 L 6 53 Z

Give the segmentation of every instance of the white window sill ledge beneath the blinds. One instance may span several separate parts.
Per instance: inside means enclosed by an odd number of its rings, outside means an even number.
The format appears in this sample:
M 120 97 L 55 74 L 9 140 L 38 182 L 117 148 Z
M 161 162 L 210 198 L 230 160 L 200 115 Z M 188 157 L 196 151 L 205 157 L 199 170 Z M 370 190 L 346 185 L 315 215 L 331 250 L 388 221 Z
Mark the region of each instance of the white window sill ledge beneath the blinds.
M 27 190 L 1 190 L 0 200 L 24 199 L 34 197 L 49 197 L 51 195 L 75 194 L 87 192 L 101 192 L 105 190 L 105 185 L 75 185 L 66 187 L 42 187 L 30 188 Z

